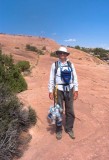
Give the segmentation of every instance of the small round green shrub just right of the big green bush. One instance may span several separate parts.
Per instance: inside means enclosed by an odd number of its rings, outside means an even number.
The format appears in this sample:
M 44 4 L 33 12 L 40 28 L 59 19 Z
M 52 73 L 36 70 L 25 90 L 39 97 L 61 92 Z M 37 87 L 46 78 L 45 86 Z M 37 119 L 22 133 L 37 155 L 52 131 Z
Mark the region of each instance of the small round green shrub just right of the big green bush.
M 16 65 L 21 72 L 27 71 L 30 68 L 30 63 L 28 61 L 19 61 Z

